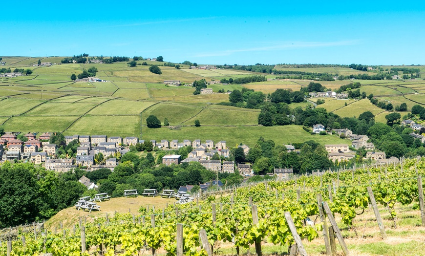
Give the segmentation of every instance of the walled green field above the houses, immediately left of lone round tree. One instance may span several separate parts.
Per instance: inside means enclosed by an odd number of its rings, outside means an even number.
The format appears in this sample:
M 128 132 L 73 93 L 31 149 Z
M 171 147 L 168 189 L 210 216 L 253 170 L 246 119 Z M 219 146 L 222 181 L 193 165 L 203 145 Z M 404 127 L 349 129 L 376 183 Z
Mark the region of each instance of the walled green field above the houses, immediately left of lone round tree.
M 139 136 L 140 116 L 86 115 L 65 131 L 72 134 L 106 134 L 108 136 Z

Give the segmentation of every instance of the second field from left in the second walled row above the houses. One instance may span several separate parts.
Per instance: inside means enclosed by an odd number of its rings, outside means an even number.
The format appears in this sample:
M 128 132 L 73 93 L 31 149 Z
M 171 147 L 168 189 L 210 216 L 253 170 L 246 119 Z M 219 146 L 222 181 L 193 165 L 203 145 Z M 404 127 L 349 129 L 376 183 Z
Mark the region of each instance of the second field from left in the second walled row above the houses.
M 44 103 L 25 115 L 31 116 L 81 116 L 96 104 L 88 103 Z

